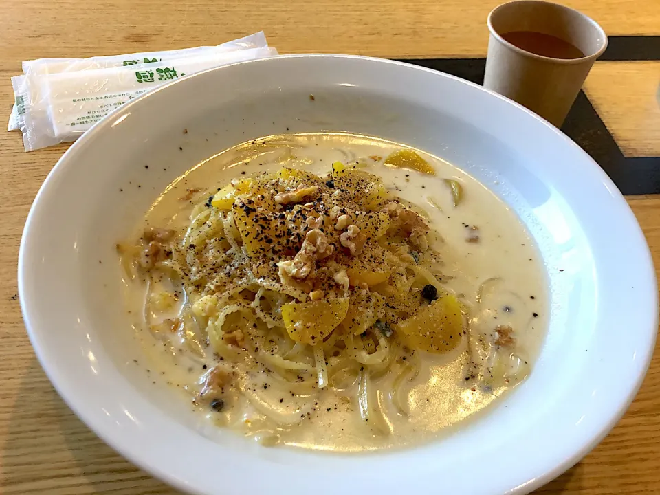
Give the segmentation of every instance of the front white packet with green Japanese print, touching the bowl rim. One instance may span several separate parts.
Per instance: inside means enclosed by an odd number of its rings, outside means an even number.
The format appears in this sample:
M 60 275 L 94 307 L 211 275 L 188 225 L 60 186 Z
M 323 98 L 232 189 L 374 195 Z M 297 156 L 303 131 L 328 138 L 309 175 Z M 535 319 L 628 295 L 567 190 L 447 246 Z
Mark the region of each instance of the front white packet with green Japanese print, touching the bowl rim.
M 148 63 L 25 76 L 23 144 L 32 151 L 76 140 L 105 115 L 127 101 L 171 80 L 234 62 L 276 55 L 272 47 Z M 12 83 L 14 81 L 12 80 Z M 14 85 L 14 91 L 20 87 Z M 38 98 L 34 98 L 38 95 Z

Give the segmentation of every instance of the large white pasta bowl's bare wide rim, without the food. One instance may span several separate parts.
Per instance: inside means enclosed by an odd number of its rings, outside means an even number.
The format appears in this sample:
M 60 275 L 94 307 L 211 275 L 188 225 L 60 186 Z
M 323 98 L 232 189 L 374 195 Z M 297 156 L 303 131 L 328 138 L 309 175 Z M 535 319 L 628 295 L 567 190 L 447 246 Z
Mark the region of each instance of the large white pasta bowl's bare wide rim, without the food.
M 536 239 L 551 298 L 547 338 L 529 379 L 480 419 L 405 450 L 266 448 L 210 430 L 133 365 L 116 241 L 181 173 L 239 142 L 287 131 L 364 133 L 438 155 L 493 190 Z M 195 494 L 530 492 L 624 414 L 658 324 L 639 225 L 577 145 L 464 80 L 340 55 L 212 69 L 102 120 L 34 201 L 19 292 L 36 354 L 67 404 L 126 458 Z

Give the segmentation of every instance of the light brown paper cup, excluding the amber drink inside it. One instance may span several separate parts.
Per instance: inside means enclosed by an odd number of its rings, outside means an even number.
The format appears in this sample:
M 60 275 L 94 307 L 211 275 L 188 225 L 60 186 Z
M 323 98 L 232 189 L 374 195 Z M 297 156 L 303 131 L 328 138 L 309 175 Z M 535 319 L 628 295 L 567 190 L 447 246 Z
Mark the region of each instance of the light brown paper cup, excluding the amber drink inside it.
M 499 5 L 488 15 L 488 29 L 484 87 L 561 126 L 591 66 L 607 47 L 604 30 L 582 12 L 539 0 Z M 522 50 L 503 38 L 516 31 L 550 34 L 584 56 L 553 58 Z

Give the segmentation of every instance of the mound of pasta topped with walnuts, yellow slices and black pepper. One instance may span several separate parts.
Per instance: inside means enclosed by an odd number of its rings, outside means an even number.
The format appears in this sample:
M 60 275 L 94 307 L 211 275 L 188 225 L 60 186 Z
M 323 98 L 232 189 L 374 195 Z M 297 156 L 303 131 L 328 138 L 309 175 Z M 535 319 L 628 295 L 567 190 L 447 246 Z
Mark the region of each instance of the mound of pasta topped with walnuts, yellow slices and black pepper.
M 454 398 L 427 394 L 427 402 L 451 404 L 459 390 L 483 396 L 462 416 L 529 373 L 516 340 L 525 328 L 506 314 L 524 310 L 529 325 L 535 296 L 501 303 L 511 292 L 496 276 L 475 284 L 474 297 L 452 285 L 448 234 L 428 210 L 460 210 L 465 181 L 438 177 L 409 148 L 314 160 L 316 171 L 276 140 L 241 149 L 245 170 L 223 183 L 179 184 L 178 211 L 118 245 L 125 281 L 142 294 L 136 327 L 195 363 L 194 380 L 180 384 L 195 408 L 266 445 L 329 448 L 318 432 L 327 423 L 340 437 L 346 430 L 344 439 L 362 428 L 377 447 L 392 443 L 397 421 L 415 428 L 421 406 L 411 389 L 419 380 L 432 386 L 438 370 Z M 258 151 L 259 165 L 246 149 Z M 399 196 L 379 170 L 402 184 L 437 184 L 445 205 Z M 480 227 L 462 232 L 465 249 L 481 248 Z M 316 430 L 295 433 L 315 418 Z

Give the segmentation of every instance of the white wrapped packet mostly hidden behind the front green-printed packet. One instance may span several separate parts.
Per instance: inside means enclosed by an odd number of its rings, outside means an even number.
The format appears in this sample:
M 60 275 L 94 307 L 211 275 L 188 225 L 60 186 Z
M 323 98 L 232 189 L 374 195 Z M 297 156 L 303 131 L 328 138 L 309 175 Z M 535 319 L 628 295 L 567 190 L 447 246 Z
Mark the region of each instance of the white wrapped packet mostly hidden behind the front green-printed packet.
M 138 52 L 124 55 L 96 56 L 89 58 L 39 58 L 23 62 L 22 76 L 12 78 L 14 98 L 16 103 L 9 118 L 8 131 L 22 130 L 25 113 L 25 77 L 59 72 L 76 72 L 81 70 L 109 69 L 111 67 L 126 67 L 143 63 L 170 63 L 184 57 L 196 57 L 207 54 L 221 54 L 237 50 L 251 50 L 267 47 L 266 36 L 262 32 L 250 34 L 217 46 L 184 48 L 181 50 L 166 50 L 162 52 Z M 32 96 L 32 101 L 39 100 L 39 95 Z

